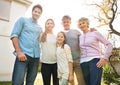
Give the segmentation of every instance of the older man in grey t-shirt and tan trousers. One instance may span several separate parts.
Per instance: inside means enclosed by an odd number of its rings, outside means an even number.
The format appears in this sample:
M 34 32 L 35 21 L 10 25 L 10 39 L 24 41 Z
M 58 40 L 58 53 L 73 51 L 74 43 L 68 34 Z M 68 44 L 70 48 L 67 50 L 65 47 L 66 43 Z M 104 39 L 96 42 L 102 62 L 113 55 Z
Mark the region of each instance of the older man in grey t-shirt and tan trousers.
M 73 58 L 73 75 L 75 73 L 78 85 L 85 85 L 82 70 L 80 67 L 80 48 L 79 36 L 80 32 L 70 29 L 71 17 L 68 15 L 63 16 L 62 25 L 66 33 L 66 43 L 70 46 Z

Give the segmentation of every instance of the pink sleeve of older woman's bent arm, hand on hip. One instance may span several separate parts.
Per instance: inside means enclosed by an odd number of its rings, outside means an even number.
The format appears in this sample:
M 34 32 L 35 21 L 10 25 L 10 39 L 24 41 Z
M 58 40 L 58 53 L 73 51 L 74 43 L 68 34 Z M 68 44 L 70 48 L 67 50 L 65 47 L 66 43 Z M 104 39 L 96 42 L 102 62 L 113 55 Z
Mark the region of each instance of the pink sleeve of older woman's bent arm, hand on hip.
M 103 43 L 106 47 L 103 58 L 108 59 L 108 57 L 111 55 L 111 52 L 112 52 L 112 48 L 113 48 L 112 44 L 102 34 L 100 34 L 98 31 L 96 31 L 96 35 L 97 35 L 96 36 L 97 39 L 101 43 Z

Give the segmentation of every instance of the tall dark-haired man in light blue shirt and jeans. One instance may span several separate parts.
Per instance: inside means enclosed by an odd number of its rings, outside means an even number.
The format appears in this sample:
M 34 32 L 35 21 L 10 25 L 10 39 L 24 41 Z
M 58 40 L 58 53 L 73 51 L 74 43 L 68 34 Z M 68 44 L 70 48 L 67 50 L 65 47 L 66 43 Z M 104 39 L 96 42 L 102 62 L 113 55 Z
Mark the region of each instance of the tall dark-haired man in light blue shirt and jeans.
M 35 5 L 31 18 L 21 17 L 14 25 L 11 40 L 15 48 L 16 60 L 12 85 L 23 85 L 25 75 L 26 85 L 34 85 L 40 57 L 39 35 L 42 31 L 37 20 L 41 14 L 41 5 Z

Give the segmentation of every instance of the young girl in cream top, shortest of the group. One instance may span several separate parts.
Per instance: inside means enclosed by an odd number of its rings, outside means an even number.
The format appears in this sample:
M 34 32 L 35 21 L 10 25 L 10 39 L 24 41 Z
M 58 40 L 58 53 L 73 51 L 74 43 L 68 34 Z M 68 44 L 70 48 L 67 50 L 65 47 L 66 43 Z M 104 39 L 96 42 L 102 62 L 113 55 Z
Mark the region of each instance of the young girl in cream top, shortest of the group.
M 70 47 L 65 44 L 65 33 L 57 34 L 57 65 L 60 85 L 73 83 L 73 60 Z

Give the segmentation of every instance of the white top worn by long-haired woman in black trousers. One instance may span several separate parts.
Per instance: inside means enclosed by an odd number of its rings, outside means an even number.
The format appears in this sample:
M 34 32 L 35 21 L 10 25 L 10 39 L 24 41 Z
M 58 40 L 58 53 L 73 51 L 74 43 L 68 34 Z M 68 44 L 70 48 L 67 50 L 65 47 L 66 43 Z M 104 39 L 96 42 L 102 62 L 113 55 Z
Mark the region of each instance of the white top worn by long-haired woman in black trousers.
M 41 62 L 53 64 L 57 62 L 56 58 L 56 36 L 47 34 L 46 42 L 41 42 Z

